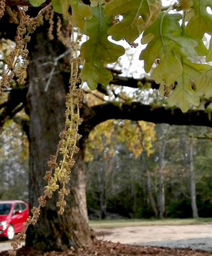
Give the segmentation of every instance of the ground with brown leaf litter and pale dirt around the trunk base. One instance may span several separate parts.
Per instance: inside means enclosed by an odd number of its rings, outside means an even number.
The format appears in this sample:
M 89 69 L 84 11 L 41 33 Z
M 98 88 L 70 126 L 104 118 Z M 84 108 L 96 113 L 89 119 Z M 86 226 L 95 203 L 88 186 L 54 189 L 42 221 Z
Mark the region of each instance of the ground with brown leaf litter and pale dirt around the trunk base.
M 127 226 L 123 228 L 96 228 L 96 238 L 91 247 L 79 251 L 39 253 L 32 248 L 22 247 L 18 256 L 207 256 L 212 255 L 212 224 L 187 226 Z M 108 242 L 106 240 L 111 240 Z M 116 243 L 115 243 L 116 242 Z M 121 242 L 121 244 L 119 243 Z M 0 251 L 3 250 L 0 243 Z M 132 245 L 135 244 L 135 245 Z M 149 246 L 152 245 L 152 246 Z M 178 248 L 181 247 L 181 248 Z M 183 248 L 182 248 L 183 247 Z M 192 250 L 190 248 L 196 248 Z M 6 247 L 4 247 L 6 248 Z M 201 251 L 203 249 L 207 251 Z M 2 251 L 0 256 L 7 256 Z

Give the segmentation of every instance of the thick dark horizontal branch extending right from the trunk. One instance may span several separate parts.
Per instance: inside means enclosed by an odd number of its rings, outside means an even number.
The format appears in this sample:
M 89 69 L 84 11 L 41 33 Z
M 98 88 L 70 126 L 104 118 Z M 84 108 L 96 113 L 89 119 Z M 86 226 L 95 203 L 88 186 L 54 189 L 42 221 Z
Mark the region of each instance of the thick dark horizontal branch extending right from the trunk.
M 169 123 L 169 125 L 201 125 L 212 127 L 212 121 L 203 110 L 188 110 L 182 113 L 179 108 L 154 108 L 142 105 L 140 102 L 122 104 L 121 106 L 112 103 L 100 104 L 83 111 L 85 122 L 81 126 L 86 135 L 99 123 L 108 119 L 131 119 L 142 120 L 152 123 Z

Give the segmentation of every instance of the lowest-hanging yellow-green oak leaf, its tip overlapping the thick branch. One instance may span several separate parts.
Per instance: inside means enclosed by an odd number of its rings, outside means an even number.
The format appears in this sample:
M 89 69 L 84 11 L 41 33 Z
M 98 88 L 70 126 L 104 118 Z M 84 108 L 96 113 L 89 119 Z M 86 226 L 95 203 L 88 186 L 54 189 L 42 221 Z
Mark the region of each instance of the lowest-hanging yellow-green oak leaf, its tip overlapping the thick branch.
M 177 103 L 182 112 L 186 112 L 190 104 L 198 106 L 200 96 L 192 89 L 191 80 L 196 81 L 210 66 L 206 64 L 193 64 L 186 58 L 181 58 L 182 74 L 177 79 L 176 88 L 168 98 L 170 106 Z

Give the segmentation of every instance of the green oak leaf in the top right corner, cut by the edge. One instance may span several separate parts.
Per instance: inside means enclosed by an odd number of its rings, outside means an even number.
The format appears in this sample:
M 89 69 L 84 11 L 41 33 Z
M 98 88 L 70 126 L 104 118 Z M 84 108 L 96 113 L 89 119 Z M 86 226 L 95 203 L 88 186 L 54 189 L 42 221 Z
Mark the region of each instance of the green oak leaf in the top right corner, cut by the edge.
M 207 7 L 212 8 L 211 0 L 194 0 L 192 18 L 188 21 L 187 31 L 193 38 L 201 39 L 204 33 L 212 33 L 212 15 L 207 12 Z M 189 12 L 188 12 L 189 14 Z

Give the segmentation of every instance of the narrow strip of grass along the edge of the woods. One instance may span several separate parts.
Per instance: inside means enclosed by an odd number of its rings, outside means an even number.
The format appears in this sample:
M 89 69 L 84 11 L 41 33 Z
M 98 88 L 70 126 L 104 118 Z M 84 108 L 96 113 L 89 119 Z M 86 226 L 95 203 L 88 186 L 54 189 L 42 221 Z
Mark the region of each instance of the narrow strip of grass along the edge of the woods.
M 116 219 L 116 220 L 96 220 L 90 221 L 93 228 L 119 228 L 124 226 L 154 226 L 154 225 L 192 225 L 192 224 L 212 224 L 212 218 L 199 219 Z

